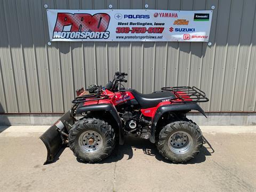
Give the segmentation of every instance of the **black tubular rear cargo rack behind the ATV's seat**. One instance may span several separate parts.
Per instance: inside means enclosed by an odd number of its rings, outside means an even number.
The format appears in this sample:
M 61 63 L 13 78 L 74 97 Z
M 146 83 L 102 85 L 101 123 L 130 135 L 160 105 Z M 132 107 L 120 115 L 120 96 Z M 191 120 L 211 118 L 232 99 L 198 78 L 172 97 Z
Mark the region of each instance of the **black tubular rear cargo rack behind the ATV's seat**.
M 162 90 L 172 91 L 177 96 L 177 98 L 170 100 L 173 103 L 195 103 L 209 101 L 206 94 L 195 86 L 162 87 Z

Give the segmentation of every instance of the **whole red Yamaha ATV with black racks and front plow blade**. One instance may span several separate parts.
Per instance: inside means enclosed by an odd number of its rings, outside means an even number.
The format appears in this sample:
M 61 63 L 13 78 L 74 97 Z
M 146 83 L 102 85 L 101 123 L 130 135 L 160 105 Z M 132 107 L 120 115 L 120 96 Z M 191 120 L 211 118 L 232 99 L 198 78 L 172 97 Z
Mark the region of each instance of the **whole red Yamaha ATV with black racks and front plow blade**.
M 159 153 L 171 162 L 187 162 L 199 153 L 203 143 L 199 127 L 186 118 L 190 110 L 204 116 L 196 102 L 209 99 L 196 87 L 163 87 L 162 91 L 141 94 L 125 89 L 125 73 L 116 72 L 105 87 L 92 85 L 77 90 L 73 107 L 41 137 L 47 160 L 54 161 L 63 146 L 84 162 L 99 162 L 134 135 L 156 143 Z

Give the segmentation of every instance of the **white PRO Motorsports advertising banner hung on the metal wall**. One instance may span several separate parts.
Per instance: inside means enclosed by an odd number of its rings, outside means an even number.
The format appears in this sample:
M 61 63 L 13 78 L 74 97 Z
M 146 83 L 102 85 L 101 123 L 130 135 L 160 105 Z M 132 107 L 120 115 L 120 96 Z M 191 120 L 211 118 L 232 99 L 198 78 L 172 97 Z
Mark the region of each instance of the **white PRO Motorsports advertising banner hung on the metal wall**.
M 51 41 L 208 42 L 212 11 L 47 10 Z

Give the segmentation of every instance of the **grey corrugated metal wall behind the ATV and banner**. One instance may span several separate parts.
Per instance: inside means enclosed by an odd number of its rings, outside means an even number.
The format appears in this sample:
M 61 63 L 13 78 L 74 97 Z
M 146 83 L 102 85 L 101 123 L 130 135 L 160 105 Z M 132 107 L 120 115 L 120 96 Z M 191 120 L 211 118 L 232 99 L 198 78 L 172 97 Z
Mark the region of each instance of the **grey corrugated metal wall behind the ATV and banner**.
M 53 42 L 48 9 L 211 10 L 210 42 Z M 1 0 L 0 112 L 48 113 L 69 109 L 79 87 L 129 74 L 127 87 L 143 93 L 195 85 L 206 111 L 255 111 L 255 0 Z

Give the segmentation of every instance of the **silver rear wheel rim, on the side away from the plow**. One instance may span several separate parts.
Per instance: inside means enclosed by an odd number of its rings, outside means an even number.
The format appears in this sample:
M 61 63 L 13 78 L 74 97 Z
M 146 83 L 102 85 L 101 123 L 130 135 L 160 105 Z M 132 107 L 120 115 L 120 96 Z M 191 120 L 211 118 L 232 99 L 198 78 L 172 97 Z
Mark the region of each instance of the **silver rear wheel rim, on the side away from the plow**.
M 185 154 L 191 146 L 193 140 L 187 132 L 177 131 L 174 132 L 168 139 L 168 146 L 174 154 Z

